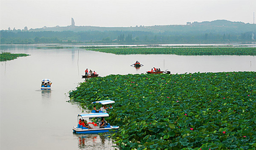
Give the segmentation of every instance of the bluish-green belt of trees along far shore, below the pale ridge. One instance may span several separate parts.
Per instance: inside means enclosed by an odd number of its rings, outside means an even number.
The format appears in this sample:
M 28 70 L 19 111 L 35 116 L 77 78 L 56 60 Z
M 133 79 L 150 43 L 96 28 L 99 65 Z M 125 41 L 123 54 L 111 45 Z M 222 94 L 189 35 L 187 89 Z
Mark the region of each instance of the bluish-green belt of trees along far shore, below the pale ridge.
M 254 42 L 256 32 L 215 33 L 198 32 L 149 32 L 149 31 L 6 31 L 1 30 L 1 44 L 29 43 L 229 43 Z

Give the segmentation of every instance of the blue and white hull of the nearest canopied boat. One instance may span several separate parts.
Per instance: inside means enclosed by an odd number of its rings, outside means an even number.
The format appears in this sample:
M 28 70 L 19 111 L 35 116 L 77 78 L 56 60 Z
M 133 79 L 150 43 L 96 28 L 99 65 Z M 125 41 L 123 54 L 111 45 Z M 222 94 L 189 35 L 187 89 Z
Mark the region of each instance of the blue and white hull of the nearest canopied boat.
M 119 129 L 119 126 L 110 126 L 110 127 L 97 127 L 93 129 L 82 129 L 78 127 L 73 127 L 73 133 L 76 134 L 98 134 L 109 132 L 110 129 Z

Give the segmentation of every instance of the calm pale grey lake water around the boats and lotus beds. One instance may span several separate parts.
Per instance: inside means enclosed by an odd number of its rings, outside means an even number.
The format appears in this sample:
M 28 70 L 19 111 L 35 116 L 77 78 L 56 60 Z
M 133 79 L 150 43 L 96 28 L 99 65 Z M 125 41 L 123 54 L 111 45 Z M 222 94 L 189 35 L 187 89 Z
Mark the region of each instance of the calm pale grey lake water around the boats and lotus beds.
M 84 81 L 81 75 L 86 68 L 101 77 L 141 74 L 153 67 L 172 74 L 256 71 L 256 56 L 114 55 L 79 48 L 37 47 L 1 46 L 1 52 L 30 54 L 1 62 L 1 150 L 114 149 L 107 135 L 72 133 L 82 110 L 66 102 L 67 93 Z M 136 60 L 144 66 L 131 67 Z M 52 90 L 40 90 L 44 78 L 52 81 Z

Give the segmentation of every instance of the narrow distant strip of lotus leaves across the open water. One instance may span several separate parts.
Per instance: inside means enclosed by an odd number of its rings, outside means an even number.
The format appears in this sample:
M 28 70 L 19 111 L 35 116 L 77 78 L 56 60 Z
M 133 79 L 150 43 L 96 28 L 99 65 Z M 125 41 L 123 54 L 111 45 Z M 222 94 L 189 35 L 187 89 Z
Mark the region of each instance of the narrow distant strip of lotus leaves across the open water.
M 255 47 L 89 48 L 112 54 L 256 55 Z

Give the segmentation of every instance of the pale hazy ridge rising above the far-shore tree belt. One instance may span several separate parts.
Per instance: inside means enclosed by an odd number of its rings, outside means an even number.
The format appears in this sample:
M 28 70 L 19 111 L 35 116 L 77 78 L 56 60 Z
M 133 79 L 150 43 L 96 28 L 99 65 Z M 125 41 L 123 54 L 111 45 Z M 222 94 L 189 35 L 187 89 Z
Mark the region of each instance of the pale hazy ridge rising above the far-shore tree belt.
M 247 32 L 256 31 L 256 24 L 245 24 L 228 20 L 215 20 L 187 23 L 186 25 L 164 26 L 136 26 L 136 27 L 96 27 L 96 26 L 66 26 L 66 27 L 43 27 L 30 29 L 29 31 L 145 31 L 145 32 Z

